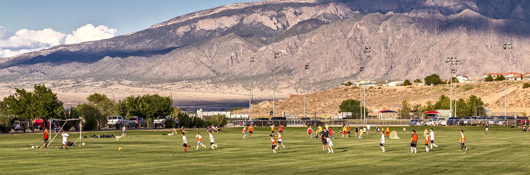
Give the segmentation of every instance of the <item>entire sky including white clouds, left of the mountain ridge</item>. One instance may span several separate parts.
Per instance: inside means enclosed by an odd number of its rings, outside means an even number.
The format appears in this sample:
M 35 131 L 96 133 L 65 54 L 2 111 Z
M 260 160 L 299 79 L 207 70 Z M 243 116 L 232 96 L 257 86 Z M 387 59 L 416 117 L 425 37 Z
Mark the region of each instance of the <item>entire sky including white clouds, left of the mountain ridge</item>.
M 255 0 L 0 0 L 0 57 L 103 40 L 171 18 Z

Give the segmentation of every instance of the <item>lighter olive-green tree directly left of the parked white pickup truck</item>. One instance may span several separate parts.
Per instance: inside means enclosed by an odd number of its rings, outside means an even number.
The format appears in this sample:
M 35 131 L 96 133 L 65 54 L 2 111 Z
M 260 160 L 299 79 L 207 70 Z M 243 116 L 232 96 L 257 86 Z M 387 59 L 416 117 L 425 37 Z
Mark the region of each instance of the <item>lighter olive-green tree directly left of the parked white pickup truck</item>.
M 105 94 L 94 93 L 86 98 L 88 104 L 93 105 L 101 113 L 98 119 L 98 129 L 107 126 L 107 117 L 117 113 L 116 102 L 107 98 Z

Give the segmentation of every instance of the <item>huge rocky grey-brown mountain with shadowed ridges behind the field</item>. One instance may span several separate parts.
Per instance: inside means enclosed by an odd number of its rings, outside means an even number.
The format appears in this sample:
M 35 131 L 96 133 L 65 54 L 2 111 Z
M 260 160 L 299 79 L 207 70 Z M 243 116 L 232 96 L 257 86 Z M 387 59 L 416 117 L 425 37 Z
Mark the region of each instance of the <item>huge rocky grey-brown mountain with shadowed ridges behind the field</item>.
M 173 18 L 107 40 L 59 45 L 3 58 L 0 81 L 127 80 L 138 84 L 191 82 L 243 89 L 329 89 L 360 79 L 449 79 L 445 57 L 460 57 L 458 73 L 476 76 L 530 71 L 527 1 L 269 0 L 230 4 Z M 505 53 L 504 41 L 516 43 Z M 361 46 L 372 46 L 361 55 Z M 273 61 L 272 51 L 280 51 Z M 249 72 L 249 57 L 257 58 Z M 363 58 L 361 60 L 361 57 Z M 311 69 L 304 73 L 303 65 Z

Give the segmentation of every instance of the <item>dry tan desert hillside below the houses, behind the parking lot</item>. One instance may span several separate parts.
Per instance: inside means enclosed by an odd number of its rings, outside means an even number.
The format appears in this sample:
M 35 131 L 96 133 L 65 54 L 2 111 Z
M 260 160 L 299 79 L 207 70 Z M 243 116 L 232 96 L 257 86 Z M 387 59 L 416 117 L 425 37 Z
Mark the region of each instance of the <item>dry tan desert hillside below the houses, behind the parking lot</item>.
M 508 81 L 507 112 L 530 111 L 530 88 L 523 89 L 523 83 L 530 81 Z M 485 108 L 492 112 L 504 112 L 504 82 L 457 83 L 457 98 L 468 98 L 476 95 L 482 98 Z M 411 104 L 425 104 L 427 101 L 436 102 L 441 95 L 449 96 L 449 85 L 436 86 L 386 86 L 368 87 L 366 89 L 366 104 L 369 110 L 398 110 L 393 104 L 401 104 L 407 100 Z M 306 94 L 307 113 L 328 113 L 322 115 L 336 115 L 342 100 L 360 99 L 360 89 L 356 86 L 340 86 L 327 91 Z M 304 96 L 278 101 L 275 104 L 277 113 L 285 111 L 300 114 L 304 111 Z M 253 107 L 253 112 L 266 116 L 272 110 L 272 103 L 267 102 Z M 248 109 L 238 111 L 248 113 Z M 258 114 L 258 113 L 256 113 Z

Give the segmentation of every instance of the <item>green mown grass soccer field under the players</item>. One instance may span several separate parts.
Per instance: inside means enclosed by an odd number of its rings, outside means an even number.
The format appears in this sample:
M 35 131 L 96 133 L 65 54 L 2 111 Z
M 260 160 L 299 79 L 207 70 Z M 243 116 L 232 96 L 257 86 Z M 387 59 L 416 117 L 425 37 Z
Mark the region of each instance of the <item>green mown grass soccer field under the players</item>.
M 426 128 L 407 127 L 409 133 L 402 134 L 401 127 L 391 127 L 401 139 L 386 139 L 386 152 L 378 146 L 381 135 L 359 140 L 336 133 L 333 154 L 323 151 L 319 140 L 308 138 L 305 127 L 285 127 L 287 149 L 276 154 L 270 149 L 270 129 L 258 127 L 251 139 L 242 139 L 241 128 L 214 132 L 218 144 L 214 150 L 205 129 L 189 130 L 188 152 L 182 149 L 180 134 L 162 135 L 170 131 L 129 130 L 130 138 L 88 138 L 84 147 L 69 150 L 26 149 L 26 144 L 42 144 L 42 133 L 7 134 L 0 135 L 0 174 L 527 174 L 530 170 L 528 132 L 519 134 L 519 129 L 509 127 L 491 127 L 493 134 L 482 134 L 483 127 L 435 128 L 440 148 L 425 152 L 420 137 L 419 152 L 411 154 L 411 131 L 421 136 Z M 460 130 L 466 135 L 467 151 L 459 151 Z M 197 131 L 208 149 L 195 150 Z M 83 135 L 102 133 L 120 135 L 120 131 Z M 70 133 L 69 140 L 75 137 Z

